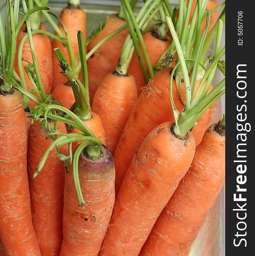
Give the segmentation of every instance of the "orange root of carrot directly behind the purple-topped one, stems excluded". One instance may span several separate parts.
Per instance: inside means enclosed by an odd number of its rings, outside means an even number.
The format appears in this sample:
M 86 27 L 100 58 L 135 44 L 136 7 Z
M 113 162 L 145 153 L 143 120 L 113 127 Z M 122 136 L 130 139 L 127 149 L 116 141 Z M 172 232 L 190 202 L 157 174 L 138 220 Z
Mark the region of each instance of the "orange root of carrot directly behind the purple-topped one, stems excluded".
M 103 128 L 102 121 L 100 119 L 100 116 L 98 116 L 96 113 L 92 112 L 92 118 L 89 120 L 83 120 L 85 125 L 88 126 L 88 128 L 95 134 L 95 136 L 102 140 L 103 145 L 106 145 L 106 134 Z M 77 128 L 74 128 L 69 133 L 81 133 L 80 130 Z M 75 141 L 72 143 L 72 149 L 74 149 L 77 145 L 82 143 L 82 141 Z

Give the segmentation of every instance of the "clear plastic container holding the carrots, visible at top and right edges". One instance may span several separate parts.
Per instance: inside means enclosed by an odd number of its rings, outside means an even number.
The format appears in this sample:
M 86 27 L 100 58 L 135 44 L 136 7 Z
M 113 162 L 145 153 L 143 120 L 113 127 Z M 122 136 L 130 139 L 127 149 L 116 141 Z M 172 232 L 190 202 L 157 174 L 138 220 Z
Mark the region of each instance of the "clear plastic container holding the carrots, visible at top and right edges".
M 178 0 L 170 0 L 173 6 L 178 5 Z M 223 2 L 221 0 L 218 1 Z M 87 35 L 90 35 L 95 25 L 103 20 L 107 15 L 115 14 L 119 10 L 119 0 L 81 0 L 81 7 L 87 14 Z M 0 0 L 1 14 L 4 17 L 4 0 Z M 49 8 L 51 11 L 60 15 L 63 7 L 67 5 L 63 0 L 49 0 Z M 142 5 L 140 0 L 137 8 Z M 52 30 L 49 24 L 45 22 L 49 31 Z M 224 39 L 223 39 L 224 40 Z M 214 83 L 217 84 L 221 80 L 221 74 L 218 72 L 215 76 Z M 212 122 L 218 122 L 224 111 L 224 98 L 218 101 L 219 111 L 215 113 Z M 156 256 L 156 255 L 155 255 Z M 158 255 L 157 255 L 158 256 Z M 170 256 L 170 255 L 169 255 Z M 221 190 L 214 207 L 207 216 L 201 230 L 192 244 L 189 256 L 225 256 L 225 194 L 224 188 Z

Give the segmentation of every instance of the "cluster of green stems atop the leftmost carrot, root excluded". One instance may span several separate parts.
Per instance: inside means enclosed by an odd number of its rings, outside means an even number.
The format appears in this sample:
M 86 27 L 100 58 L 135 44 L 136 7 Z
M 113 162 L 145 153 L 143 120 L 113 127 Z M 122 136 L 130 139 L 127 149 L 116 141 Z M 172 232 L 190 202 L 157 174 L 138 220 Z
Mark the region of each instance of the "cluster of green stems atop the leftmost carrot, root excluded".
M 6 0 L 5 24 L 3 26 L 0 14 L 0 42 L 1 42 L 1 73 L 0 73 L 0 91 L 9 92 L 12 90 L 12 83 L 18 80 L 14 73 L 14 58 L 17 44 L 17 34 L 20 31 L 24 21 L 34 12 L 47 10 L 47 7 L 34 8 L 18 22 L 19 1 Z M 14 79 L 15 78 L 15 79 Z M 16 82 L 17 83 L 17 82 Z

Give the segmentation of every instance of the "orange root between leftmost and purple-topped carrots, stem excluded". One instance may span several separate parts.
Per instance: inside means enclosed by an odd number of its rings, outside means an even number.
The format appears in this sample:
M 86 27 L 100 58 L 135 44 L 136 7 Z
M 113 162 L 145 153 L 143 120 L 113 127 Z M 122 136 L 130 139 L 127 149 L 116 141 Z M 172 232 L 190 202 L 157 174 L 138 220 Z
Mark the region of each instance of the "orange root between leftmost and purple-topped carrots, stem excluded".
M 54 123 L 51 122 L 53 126 Z M 52 139 L 41 129 L 41 122 L 34 122 L 29 129 L 28 174 L 31 196 L 32 221 L 42 256 L 58 256 L 62 243 L 63 192 L 65 167 L 56 156 L 57 149 L 49 154 L 41 173 L 32 178 Z M 58 131 L 66 133 L 66 126 L 57 122 Z M 68 154 L 67 145 L 60 146 L 62 154 Z M 47 189 L 45 189 L 47 188 Z

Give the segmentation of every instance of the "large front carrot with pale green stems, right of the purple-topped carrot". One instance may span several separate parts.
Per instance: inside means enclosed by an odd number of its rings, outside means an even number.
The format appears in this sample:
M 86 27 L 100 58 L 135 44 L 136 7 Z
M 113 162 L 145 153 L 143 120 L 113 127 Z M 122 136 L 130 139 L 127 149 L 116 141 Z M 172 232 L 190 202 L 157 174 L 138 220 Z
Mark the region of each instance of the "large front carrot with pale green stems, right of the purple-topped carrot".
M 209 15 L 207 18 L 209 21 Z M 139 254 L 153 224 L 166 205 L 166 201 L 171 198 L 192 162 L 195 154 L 195 140 L 189 130 L 195 125 L 198 117 L 209 108 L 209 105 L 224 93 L 224 90 L 218 92 L 224 86 L 223 80 L 215 87 L 215 90 L 212 90 L 207 96 L 201 97 L 194 105 L 192 104 L 192 100 L 195 99 L 192 97 L 193 89 L 195 90 L 194 80 L 191 80 L 192 83 L 189 81 L 181 44 L 172 20 L 170 17 L 166 17 L 166 19 L 177 48 L 179 60 L 170 79 L 170 99 L 175 121 L 158 125 L 140 145 L 117 195 L 113 209 L 114 214 L 100 256 L 123 254 L 136 256 Z M 206 30 L 208 26 L 209 23 L 206 23 Z M 204 43 L 206 32 L 203 33 L 199 48 Z M 221 54 L 215 56 L 212 69 L 215 65 L 217 67 L 218 58 Z M 198 65 L 197 61 L 195 63 Z M 186 103 L 182 112 L 176 109 L 172 94 L 172 81 L 179 64 L 183 70 L 186 96 Z M 211 73 L 210 70 L 207 71 L 205 78 L 209 73 Z M 195 95 L 199 93 L 199 90 L 200 87 L 195 90 Z M 127 210 L 131 208 L 132 215 Z M 114 251 L 112 251 L 113 246 Z

